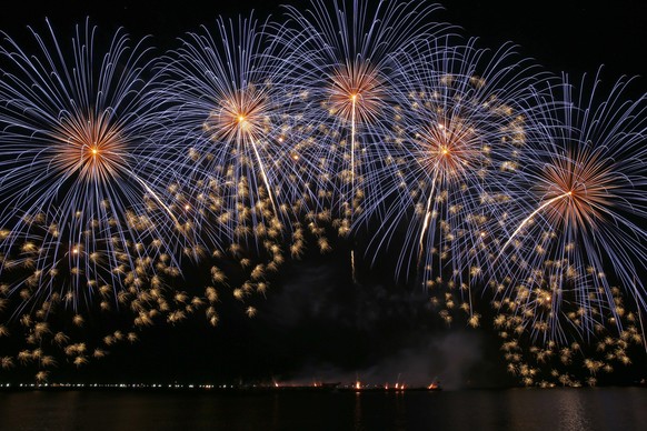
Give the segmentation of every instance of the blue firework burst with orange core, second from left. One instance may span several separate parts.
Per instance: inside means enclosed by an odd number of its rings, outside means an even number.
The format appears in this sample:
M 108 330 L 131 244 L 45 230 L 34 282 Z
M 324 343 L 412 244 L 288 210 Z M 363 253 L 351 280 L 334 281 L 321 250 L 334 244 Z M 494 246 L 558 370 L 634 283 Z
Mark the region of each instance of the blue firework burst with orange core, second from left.
M 265 297 L 285 259 L 287 229 L 300 230 L 293 216 L 315 201 L 300 188 L 297 119 L 286 114 L 279 84 L 289 64 L 261 28 L 253 18 L 219 18 L 213 29 L 187 33 L 160 61 L 167 127 L 156 138 L 159 157 L 181 166 L 171 188 L 199 234 L 187 252 L 210 251 L 211 279 L 201 281 L 213 325 L 222 285 L 256 315 L 250 297 Z

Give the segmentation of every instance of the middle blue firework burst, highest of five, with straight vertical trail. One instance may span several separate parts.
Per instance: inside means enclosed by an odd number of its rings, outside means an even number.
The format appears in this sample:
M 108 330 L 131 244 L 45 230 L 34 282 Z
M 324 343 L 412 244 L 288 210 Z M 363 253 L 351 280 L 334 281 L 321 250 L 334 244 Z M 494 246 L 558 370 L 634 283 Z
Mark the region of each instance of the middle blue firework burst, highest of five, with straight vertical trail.
M 382 140 L 395 116 L 394 58 L 445 31 L 430 19 L 437 9 L 404 1 L 374 9 L 362 0 L 315 0 L 307 12 L 287 7 L 291 22 L 277 33 L 292 69 L 286 80 L 291 103 L 307 107 L 300 110 L 310 144 L 300 158 L 309 179 L 332 194 L 336 217 L 350 219 L 372 192 L 362 176 L 388 157 Z M 347 233 L 348 223 L 340 231 Z

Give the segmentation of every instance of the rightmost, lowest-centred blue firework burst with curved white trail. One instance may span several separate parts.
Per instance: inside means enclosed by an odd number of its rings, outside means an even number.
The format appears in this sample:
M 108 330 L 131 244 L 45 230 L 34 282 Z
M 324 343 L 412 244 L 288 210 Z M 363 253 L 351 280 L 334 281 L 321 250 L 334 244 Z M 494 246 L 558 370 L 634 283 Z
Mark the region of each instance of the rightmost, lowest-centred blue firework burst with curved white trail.
M 614 284 L 647 307 L 647 97 L 625 100 L 628 82 L 606 91 L 599 72 L 579 88 L 565 79 L 537 102 L 544 127 L 515 179 L 527 193 L 510 206 L 499 253 L 510 263 L 500 293 L 526 310 L 538 338 L 588 337 L 608 313 L 621 330 Z

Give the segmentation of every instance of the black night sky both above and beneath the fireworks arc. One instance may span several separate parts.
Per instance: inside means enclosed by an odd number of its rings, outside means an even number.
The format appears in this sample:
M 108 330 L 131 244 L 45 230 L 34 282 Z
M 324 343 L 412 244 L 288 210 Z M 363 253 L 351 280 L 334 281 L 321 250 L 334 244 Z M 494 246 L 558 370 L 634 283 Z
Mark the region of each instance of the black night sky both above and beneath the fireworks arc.
M 236 17 L 255 10 L 259 19 L 280 20 L 281 8 L 269 1 L 20 1 L 0 16 L 0 30 L 17 40 L 26 26 L 44 31 L 44 18 L 61 34 L 84 17 L 111 36 L 125 27 L 133 37 L 151 34 L 160 52 L 176 38 L 200 24 L 212 26 L 219 14 Z M 142 2 L 143 3 L 143 2 Z M 286 1 L 295 6 L 305 1 Z M 605 2 L 603 2 L 605 3 Z M 506 41 L 554 72 L 574 78 L 595 73 L 605 64 L 609 81 L 647 71 L 647 3 L 643 0 L 590 1 L 457 1 L 444 2 L 436 18 L 479 37 L 481 46 Z M 155 6 L 153 6 L 155 4 Z M 637 93 L 647 81 L 637 82 Z M 312 380 L 348 382 L 356 378 L 425 384 L 440 379 L 447 387 L 510 384 L 495 334 L 487 328 L 457 323 L 447 329 L 429 310 L 425 291 L 391 282 L 388 270 L 359 263 L 359 282 L 349 268 L 349 244 L 321 257 L 307 253 L 288 262 L 271 283 L 267 299 L 257 301 L 249 319 L 243 308 L 223 298 L 221 323 L 203 321 L 145 329 L 140 342 L 119 347 L 100 361 L 76 370 L 54 371 L 61 380 L 129 382 L 223 382 Z M 225 295 L 223 295 L 225 297 Z M 20 368 L 17 372 L 21 372 Z M 58 380 L 58 379 L 54 379 Z

